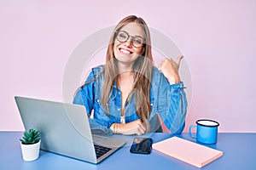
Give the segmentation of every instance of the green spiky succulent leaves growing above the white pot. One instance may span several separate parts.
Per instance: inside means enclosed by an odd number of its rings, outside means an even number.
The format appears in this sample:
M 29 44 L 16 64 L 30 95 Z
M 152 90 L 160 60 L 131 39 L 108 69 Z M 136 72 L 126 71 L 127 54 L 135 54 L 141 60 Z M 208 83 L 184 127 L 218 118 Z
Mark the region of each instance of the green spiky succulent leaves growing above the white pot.
M 37 129 L 29 129 L 24 132 L 22 139 L 20 139 L 21 144 L 36 144 L 40 140 L 40 133 Z

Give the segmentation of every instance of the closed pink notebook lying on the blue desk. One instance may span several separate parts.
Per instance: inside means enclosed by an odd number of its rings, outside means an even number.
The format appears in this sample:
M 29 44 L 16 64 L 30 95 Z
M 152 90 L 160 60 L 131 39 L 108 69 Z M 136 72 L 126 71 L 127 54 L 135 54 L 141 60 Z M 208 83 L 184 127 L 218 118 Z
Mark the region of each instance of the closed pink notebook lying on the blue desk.
M 186 139 L 172 137 L 152 145 L 154 150 L 188 162 L 195 167 L 203 167 L 223 156 L 223 151 L 214 150 L 207 146 L 190 142 Z

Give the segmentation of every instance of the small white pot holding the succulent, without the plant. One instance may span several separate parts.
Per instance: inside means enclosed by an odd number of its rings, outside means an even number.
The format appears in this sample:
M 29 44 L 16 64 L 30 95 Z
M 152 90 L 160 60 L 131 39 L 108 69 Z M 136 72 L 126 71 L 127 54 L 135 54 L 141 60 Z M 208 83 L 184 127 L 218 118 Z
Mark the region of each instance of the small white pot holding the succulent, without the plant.
M 21 152 L 24 161 L 34 161 L 38 159 L 41 140 L 37 144 L 21 144 Z

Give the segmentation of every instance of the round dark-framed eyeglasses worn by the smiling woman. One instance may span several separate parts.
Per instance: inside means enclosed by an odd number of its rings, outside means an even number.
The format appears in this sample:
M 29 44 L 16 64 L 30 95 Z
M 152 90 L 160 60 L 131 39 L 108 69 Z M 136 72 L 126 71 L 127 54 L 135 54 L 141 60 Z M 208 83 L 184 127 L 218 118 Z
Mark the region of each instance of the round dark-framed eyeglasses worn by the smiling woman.
M 119 42 L 127 42 L 128 39 L 131 37 L 131 43 L 133 45 L 133 47 L 135 48 L 140 48 L 143 46 L 143 37 L 140 37 L 140 36 L 130 36 L 128 34 L 128 32 L 126 31 L 116 31 L 117 35 L 116 35 L 116 39 L 119 41 Z

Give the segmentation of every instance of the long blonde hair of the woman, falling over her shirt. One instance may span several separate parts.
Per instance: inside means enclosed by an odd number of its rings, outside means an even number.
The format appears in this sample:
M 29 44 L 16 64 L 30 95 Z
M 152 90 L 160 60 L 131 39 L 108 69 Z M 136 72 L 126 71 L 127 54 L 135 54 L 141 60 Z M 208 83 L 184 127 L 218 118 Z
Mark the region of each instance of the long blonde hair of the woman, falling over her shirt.
M 108 43 L 108 51 L 106 56 L 106 65 L 104 69 L 104 82 L 102 87 L 102 107 L 108 111 L 108 100 L 113 92 L 114 82 L 118 82 L 119 70 L 117 67 L 117 60 L 113 54 L 113 45 L 116 38 L 116 32 L 123 26 L 135 22 L 142 27 L 145 36 L 145 42 L 143 44 L 143 54 L 139 56 L 133 65 L 134 72 L 134 85 L 133 89 L 140 93 L 134 93 L 135 103 L 137 109 L 137 116 L 145 122 L 151 112 L 149 101 L 149 88 L 153 70 L 153 58 L 151 52 L 151 39 L 148 30 L 148 26 L 142 18 L 138 18 L 135 15 L 125 17 L 125 19 L 119 21 L 119 24 L 114 28 L 113 33 Z M 110 92 L 110 93 L 109 93 Z M 106 111 L 106 110 L 105 110 Z

